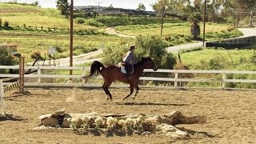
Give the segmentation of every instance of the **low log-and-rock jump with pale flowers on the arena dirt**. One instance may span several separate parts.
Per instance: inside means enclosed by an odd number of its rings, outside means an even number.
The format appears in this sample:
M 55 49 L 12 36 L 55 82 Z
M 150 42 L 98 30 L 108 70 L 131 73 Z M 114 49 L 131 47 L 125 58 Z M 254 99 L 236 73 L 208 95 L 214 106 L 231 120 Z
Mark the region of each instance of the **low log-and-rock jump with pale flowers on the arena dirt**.
M 206 116 L 186 117 L 179 111 L 170 114 L 146 115 L 146 114 L 66 114 L 66 110 L 58 110 L 53 114 L 46 114 L 39 117 L 40 124 L 44 127 L 62 127 L 78 129 L 96 130 L 122 130 L 140 131 L 150 134 L 166 134 L 171 137 L 187 137 L 190 134 L 178 130 L 178 124 L 200 124 L 206 122 Z

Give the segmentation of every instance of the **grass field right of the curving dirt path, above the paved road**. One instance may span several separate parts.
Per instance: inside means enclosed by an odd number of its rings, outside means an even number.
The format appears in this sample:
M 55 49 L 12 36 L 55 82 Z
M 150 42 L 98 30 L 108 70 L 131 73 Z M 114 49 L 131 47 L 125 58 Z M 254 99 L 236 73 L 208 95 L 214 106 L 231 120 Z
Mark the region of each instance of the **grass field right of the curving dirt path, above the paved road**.
M 201 35 L 202 37 L 202 24 L 199 25 L 201 28 Z M 234 29 L 231 29 L 228 25 L 222 24 L 207 24 L 206 23 L 206 38 L 208 40 L 222 38 L 223 32 L 226 33 L 228 36 L 234 35 L 232 32 Z M 122 34 L 127 35 L 159 35 L 161 32 L 161 25 L 160 24 L 152 24 L 149 26 L 117 26 L 116 30 Z M 230 31 L 229 31 L 230 30 Z M 181 23 L 165 23 L 163 26 L 163 36 L 174 36 L 177 34 L 183 34 L 186 36 L 190 36 L 190 24 L 188 22 L 181 22 Z M 207 37 L 207 35 L 210 35 Z M 237 36 L 242 35 L 238 33 Z M 233 36 L 230 36 L 230 38 Z

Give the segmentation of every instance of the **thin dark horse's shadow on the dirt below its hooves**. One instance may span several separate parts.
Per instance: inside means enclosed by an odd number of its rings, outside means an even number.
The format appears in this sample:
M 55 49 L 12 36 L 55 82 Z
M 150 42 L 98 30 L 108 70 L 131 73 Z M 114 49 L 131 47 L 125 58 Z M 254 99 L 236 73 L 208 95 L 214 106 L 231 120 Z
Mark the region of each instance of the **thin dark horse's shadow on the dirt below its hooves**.
M 118 105 L 138 105 L 138 106 L 189 106 L 188 104 L 176 104 L 176 103 L 158 103 L 158 102 L 114 102 Z

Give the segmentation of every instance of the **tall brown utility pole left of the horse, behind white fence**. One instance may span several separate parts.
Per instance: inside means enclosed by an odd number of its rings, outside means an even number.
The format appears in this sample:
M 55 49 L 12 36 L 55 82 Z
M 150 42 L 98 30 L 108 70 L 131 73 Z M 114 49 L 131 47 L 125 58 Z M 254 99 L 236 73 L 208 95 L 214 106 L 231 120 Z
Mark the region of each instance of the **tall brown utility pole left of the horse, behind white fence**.
M 70 4 L 70 66 L 73 66 L 73 7 L 74 0 Z M 73 70 L 70 70 L 70 75 L 73 75 Z

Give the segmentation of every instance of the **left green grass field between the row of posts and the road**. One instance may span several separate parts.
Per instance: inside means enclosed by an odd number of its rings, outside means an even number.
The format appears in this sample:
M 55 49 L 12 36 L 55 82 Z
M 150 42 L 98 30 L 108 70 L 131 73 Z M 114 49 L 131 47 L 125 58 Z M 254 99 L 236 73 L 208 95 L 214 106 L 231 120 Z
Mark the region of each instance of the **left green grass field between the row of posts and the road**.
M 69 56 L 70 49 L 70 37 L 67 34 L 30 34 L 30 33 L 10 33 L 10 32 L 0 32 L 0 43 L 17 43 L 18 52 L 23 56 L 30 58 L 30 52 L 38 50 L 41 54 L 48 54 L 50 46 L 58 46 L 65 51 L 61 54 L 57 54 L 56 58 L 63 58 Z M 130 38 L 130 40 L 132 40 Z M 129 39 L 127 40 L 129 41 Z M 98 49 L 102 44 L 104 46 L 114 46 L 119 42 L 122 42 L 122 38 L 114 36 L 101 36 L 90 35 L 90 36 L 80 36 L 74 35 L 74 47 L 82 46 L 88 51 L 92 49 Z M 74 54 L 81 54 L 74 51 Z M 31 59 L 29 59 L 31 61 Z

